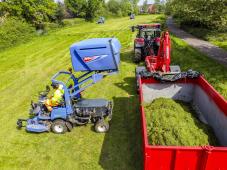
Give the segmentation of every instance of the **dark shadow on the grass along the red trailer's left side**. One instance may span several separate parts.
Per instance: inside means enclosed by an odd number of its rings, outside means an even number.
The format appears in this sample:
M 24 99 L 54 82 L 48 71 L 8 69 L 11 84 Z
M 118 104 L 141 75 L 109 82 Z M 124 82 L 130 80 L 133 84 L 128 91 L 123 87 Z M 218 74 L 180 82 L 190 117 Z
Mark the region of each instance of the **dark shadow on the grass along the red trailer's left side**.
M 113 118 L 99 164 L 105 170 L 142 169 L 142 136 L 137 96 L 113 98 Z

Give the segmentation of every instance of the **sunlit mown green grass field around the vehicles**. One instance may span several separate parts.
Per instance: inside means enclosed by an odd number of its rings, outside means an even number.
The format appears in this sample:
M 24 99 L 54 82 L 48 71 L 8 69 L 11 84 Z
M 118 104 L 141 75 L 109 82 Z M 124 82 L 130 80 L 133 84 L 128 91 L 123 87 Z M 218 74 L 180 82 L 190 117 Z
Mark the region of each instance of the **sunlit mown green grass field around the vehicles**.
M 160 15 L 110 19 L 105 25 L 84 23 L 0 53 L 0 169 L 141 169 L 139 103 L 135 91 L 135 64 L 131 61 L 135 34 L 130 26 L 159 22 Z M 30 100 L 44 89 L 59 70 L 71 66 L 69 46 L 93 37 L 117 37 L 122 44 L 120 74 L 105 78 L 83 93 L 88 98 L 114 101 L 113 119 L 107 134 L 91 125 L 65 135 L 31 134 L 16 129 L 17 118 L 27 118 Z M 172 62 L 182 70 L 202 71 L 227 98 L 227 72 L 218 63 L 173 37 Z

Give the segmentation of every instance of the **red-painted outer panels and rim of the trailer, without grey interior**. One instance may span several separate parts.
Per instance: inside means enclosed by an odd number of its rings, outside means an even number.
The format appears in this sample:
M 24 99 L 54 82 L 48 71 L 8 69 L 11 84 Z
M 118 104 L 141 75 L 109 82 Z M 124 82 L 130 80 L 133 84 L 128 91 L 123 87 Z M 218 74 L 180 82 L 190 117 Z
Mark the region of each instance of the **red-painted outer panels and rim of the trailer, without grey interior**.
M 183 147 L 183 146 L 152 146 L 148 143 L 145 112 L 142 103 L 143 84 L 158 84 L 153 78 L 139 78 L 139 100 L 142 121 L 143 157 L 145 170 L 227 170 L 227 147 Z M 176 83 L 198 85 L 214 101 L 227 116 L 227 101 L 202 77 L 184 79 Z

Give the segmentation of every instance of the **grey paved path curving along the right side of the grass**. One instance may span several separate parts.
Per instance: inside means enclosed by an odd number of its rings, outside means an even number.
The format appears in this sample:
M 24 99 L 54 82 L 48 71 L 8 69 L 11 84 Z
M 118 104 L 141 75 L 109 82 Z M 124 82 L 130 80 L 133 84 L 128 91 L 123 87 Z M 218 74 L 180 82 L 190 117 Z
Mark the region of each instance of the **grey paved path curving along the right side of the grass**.
M 173 22 L 172 17 L 169 17 L 167 20 L 167 26 L 169 31 L 176 35 L 177 37 L 183 39 L 189 45 L 197 48 L 199 51 L 205 53 L 210 58 L 217 60 L 219 63 L 227 67 L 227 51 L 219 48 L 207 41 L 200 40 L 191 34 L 179 29 Z

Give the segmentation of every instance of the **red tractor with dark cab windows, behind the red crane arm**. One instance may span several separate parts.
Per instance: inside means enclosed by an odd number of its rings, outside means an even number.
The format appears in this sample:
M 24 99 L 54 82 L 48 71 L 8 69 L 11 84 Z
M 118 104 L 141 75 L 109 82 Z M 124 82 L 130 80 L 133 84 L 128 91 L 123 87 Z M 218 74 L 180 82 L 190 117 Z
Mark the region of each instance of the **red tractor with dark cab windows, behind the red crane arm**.
M 161 36 L 160 24 L 141 24 L 132 27 L 132 32 L 138 30 L 134 40 L 134 62 L 139 63 L 146 56 L 158 55 Z

